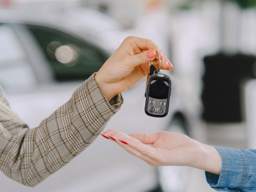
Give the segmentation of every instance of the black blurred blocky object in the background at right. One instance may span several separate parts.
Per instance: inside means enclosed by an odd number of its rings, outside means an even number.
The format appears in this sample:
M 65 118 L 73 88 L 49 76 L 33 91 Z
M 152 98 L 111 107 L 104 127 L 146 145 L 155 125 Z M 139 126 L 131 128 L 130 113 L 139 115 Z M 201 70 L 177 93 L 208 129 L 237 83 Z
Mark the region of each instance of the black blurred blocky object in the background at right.
M 253 55 L 219 53 L 204 57 L 203 119 L 209 122 L 241 122 L 241 84 L 255 78 Z

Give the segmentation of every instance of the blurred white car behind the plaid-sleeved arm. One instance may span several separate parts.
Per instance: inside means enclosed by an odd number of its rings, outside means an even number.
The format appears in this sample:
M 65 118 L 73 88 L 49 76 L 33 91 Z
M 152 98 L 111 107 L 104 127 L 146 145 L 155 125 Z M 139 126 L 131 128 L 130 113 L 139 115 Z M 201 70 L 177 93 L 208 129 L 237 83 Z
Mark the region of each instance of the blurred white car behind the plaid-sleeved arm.
M 68 101 L 82 81 L 96 72 L 126 37 L 114 20 L 95 10 L 56 15 L 1 10 L 0 18 L 0 85 L 11 108 L 30 128 Z M 129 134 L 178 127 L 189 132 L 193 116 L 186 103 L 192 101 L 186 100 L 172 73 L 163 73 L 172 80 L 166 117 L 145 114 L 143 79 L 123 93 L 123 106 L 106 129 Z M 164 168 L 159 170 L 99 136 L 83 153 L 35 188 L 18 184 L 1 173 L 1 191 L 153 191 L 159 185 L 164 189 L 163 180 L 168 185 L 169 176 L 175 177 L 170 172 L 162 179 Z

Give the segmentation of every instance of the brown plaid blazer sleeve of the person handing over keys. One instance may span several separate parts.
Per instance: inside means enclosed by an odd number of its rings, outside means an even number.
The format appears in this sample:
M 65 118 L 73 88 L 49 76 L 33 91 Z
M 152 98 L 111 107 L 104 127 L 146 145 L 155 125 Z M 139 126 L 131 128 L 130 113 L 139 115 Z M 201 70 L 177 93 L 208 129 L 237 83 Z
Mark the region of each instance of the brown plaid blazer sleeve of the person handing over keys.
M 37 185 L 81 153 L 120 108 L 106 100 L 94 74 L 34 129 L 11 111 L 1 94 L 0 106 L 0 169 L 27 186 Z

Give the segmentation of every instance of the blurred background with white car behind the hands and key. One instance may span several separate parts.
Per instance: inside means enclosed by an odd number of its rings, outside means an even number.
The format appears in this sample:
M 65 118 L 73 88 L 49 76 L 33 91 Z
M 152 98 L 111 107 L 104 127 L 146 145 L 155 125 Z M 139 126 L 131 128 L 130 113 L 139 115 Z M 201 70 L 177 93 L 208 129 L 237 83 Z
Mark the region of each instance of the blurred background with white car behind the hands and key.
M 169 114 L 144 113 L 143 79 L 123 93 L 106 129 L 181 132 L 200 142 L 256 147 L 256 1 L 0 0 L 0 85 L 33 128 L 71 97 L 126 36 L 170 59 Z M 35 188 L 0 173 L 1 191 L 214 191 L 204 171 L 148 166 L 104 138 Z

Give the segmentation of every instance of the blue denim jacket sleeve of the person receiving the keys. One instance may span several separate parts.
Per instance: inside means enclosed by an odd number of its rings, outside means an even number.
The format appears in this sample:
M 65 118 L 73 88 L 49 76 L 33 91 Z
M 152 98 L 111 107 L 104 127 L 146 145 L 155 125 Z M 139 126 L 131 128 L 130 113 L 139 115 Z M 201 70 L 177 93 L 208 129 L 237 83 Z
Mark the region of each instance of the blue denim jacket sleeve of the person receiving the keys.
M 256 191 L 256 150 L 214 146 L 222 158 L 219 175 L 205 172 L 216 191 Z

